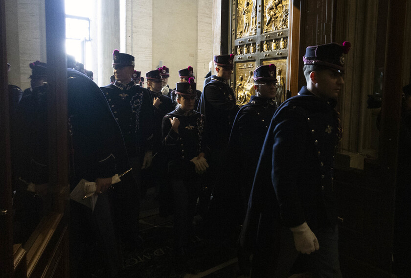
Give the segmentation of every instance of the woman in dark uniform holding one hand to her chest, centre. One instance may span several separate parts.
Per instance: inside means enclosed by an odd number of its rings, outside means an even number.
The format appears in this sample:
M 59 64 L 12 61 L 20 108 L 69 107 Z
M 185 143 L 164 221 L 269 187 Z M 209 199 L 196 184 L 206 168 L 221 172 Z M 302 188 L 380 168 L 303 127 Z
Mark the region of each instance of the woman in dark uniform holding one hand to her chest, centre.
M 164 116 L 162 138 L 168 157 L 168 175 L 174 199 L 174 251 L 186 254 L 206 162 L 205 117 L 193 110 L 196 98 L 194 79 L 176 83 L 176 110 Z

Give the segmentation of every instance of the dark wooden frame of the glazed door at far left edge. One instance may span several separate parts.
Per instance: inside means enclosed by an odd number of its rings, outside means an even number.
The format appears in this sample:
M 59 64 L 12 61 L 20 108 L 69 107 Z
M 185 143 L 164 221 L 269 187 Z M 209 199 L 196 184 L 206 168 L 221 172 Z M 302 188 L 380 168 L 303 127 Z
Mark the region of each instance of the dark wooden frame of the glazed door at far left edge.
M 0 2 L 0 265 L 1 278 L 68 277 L 68 144 L 67 67 L 64 0 L 45 0 L 49 188 L 53 211 L 28 241 L 31 248 L 13 246 L 12 185 L 5 34 L 5 3 Z M 41 236 L 38 236 L 41 235 Z M 27 259 L 26 259 L 27 257 Z

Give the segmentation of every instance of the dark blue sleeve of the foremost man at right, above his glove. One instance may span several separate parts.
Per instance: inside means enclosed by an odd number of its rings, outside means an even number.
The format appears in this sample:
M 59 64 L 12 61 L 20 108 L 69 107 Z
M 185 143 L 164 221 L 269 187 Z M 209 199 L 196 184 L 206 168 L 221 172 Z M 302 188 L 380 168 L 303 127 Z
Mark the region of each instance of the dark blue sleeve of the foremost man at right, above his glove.
M 307 126 L 304 117 L 289 109 L 277 115 L 274 128 L 272 155 L 272 182 L 277 196 L 280 215 L 287 227 L 295 227 L 305 221 L 302 209 L 298 172 L 303 169 Z

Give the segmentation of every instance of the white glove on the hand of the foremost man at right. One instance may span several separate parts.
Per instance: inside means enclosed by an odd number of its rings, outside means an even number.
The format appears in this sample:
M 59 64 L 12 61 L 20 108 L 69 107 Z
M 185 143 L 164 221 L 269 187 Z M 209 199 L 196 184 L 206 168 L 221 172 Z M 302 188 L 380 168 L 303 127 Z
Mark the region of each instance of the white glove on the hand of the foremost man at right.
M 302 223 L 297 227 L 290 228 L 294 235 L 294 243 L 297 251 L 302 254 L 310 254 L 320 249 L 318 239 L 314 232 L 308 227 L 307 222 Z

